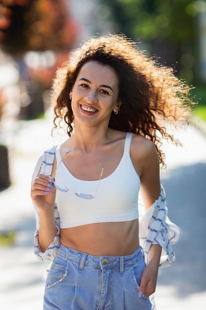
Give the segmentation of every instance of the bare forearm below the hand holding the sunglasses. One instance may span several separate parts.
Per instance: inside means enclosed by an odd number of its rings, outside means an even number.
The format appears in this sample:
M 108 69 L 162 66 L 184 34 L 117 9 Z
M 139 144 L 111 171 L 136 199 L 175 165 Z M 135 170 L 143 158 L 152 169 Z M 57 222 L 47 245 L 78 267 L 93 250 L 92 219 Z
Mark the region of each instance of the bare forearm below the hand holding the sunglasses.
M 57 234 L 54 213 L 40 213 L 39 246 L 44 253 Z

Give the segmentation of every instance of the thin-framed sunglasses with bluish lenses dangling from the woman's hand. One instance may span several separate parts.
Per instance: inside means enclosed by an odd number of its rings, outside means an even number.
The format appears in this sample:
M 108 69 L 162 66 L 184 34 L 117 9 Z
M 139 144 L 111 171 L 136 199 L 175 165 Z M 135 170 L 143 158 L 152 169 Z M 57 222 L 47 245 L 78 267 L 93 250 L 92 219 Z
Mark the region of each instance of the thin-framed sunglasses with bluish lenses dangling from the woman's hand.
M 64 155 L 62 155 L 61 160 L 60 160 L 58 166 L 56 167 L 56 170 L 55 170 L 55 172 L 54 172 L 53 175 L 56 174 L 56 171 L 57 171 L 57 169 L 58 169 L 60 163 L 62 162 L 62 159 L 64 158 L 64 156 L 65 156 L 66 154 L 69 154 L 70 152 L 72 152 L 72 151 L 66 152 L 66 153 L 64 153 Z M 96 196 L 98 187 L 99 187 L 99 183 L 100 183 L 100 180 L 101 180 L 103 171 L 104 171 L 103 165 L 102 165 L 101 163 L 100 163 L 99 165 L 100 165 L 100 167 L 102 168 L 102 170 L 101 170 L 101 173 L 100 173 L 99 181 L 98 181 L 98 184 L 97 184 L 97 187 L 96 187 L 96 191 L 95 191 L 94 196 L 92 196 L 91 194 L 85 194 L 85 193 L 82 193 L 82 192 L 72 192 L 72 191 L 71 191 L 70 189 L 68 189 L 66 186 L 61 185 L 61 184 L 59 184 L 59 183 L 57 183 L 57 182 L 52 182 L 52 184 L 54 185 L 54 187 L 55 187 L 56 190 L 58 190 L 58 191 L 61 191 L 61 192 L 64 192 L 64 193 L 70 192 L 70 193 L 73 193 L 73 194 L 75 194 L 77 197 L 82 198 L 82 199 L 87 199 L 87 200 L 89 200 L 89 199 L 94 199 L 95 196 Z

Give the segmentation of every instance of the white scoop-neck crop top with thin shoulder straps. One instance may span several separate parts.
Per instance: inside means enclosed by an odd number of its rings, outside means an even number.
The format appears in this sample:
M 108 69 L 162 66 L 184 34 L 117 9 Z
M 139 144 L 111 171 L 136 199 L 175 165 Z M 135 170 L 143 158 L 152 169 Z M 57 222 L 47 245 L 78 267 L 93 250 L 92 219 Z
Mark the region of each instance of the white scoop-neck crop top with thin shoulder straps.
M 71 192 L 56 191 L 56 204 L 60 215 L 60 228 L 76 227 L 91 223 L 123 222 L 139 217 L 138 194 L 140 178 L 130 158 L 132 133 L 126 134 L 124 154 L 116 170 L 108 177 L 97 181 L 75 178 L 63 162 L 60 163 L 55 181 L 72 192 L 95 195 L 85 200 Z M 57 165 L 61 160 L 59 147 L 56 148 Z

